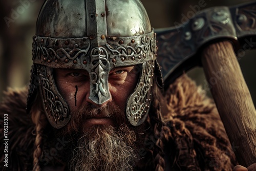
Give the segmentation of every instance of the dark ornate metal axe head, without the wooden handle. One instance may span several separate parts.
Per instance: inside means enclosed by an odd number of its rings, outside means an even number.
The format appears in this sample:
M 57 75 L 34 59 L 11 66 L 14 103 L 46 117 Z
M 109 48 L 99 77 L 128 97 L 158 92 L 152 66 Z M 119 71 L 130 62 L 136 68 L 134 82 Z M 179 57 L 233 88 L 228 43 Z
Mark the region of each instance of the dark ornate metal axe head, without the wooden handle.
M 211 42 L 229 40 L 234 50 L 256 47 L 256 3 L 202 10 L 186 23 L 156 29 L 158 62 L 165 89 L 184 71 L 201 66 L 200 53 Z

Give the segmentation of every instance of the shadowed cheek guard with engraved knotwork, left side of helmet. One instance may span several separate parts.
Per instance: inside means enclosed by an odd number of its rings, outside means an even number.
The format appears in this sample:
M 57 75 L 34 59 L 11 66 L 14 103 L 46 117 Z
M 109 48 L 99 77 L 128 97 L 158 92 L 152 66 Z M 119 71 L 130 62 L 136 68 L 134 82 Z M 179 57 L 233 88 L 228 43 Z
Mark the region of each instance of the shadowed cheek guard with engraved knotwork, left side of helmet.
M 54 91 L 53 82 L 50 81 L 50 76 L 47 73 L 46 66 L 38 66 L 38 74 L 40 77 L 40 83 L 42 88 L 42 96 L 43 96 L 43 103 L 45 105 L 45 109 L 48 113 L 49 120 L 53 122 L 61 121 L 68 117 L 68 110 L 59 100 L 59 97 Z

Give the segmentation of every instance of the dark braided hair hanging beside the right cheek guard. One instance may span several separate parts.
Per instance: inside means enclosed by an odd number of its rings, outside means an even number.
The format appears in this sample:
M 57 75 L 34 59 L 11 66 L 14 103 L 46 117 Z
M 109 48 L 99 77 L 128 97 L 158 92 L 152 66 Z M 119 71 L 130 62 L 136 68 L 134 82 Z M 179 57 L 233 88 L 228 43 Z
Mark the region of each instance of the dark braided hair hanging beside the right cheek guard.
M 156 78 L 153 81 L 152 104 L 150 113 L 145 121 L 145 131 L 143 150 L 140 149 L 140 160 L 143 165 L 135 170 L 164 170 L 165 154 L 164 145 L 168 142 L 170 130 L 163 122 L 161 114 L 161 99 L 163 98 L 161 89 L 158 87 Z

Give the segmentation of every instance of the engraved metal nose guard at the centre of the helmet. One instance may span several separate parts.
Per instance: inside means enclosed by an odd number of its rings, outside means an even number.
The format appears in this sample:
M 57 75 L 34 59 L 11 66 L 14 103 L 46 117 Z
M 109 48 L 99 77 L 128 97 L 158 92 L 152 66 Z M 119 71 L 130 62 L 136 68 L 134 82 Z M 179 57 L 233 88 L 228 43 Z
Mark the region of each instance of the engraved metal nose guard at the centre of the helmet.
M 94 48 L 91 51 L 91 92 L 89 98 L 97 104 L 101 104 L 111 98 L 108 86 L 111 66 L 108 59 L 108 53 L 102 47 Z

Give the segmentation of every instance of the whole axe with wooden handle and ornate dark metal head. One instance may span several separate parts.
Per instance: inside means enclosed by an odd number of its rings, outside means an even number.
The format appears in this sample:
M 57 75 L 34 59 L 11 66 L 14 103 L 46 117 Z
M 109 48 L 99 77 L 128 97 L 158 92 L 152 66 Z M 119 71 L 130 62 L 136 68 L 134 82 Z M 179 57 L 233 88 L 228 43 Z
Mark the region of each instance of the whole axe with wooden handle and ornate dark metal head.
M 183 72 L 202 66 L 239 164 L 256 163 L 256 112 L 236 57 L 256 48 L 256 2 L 209 8 L 184 25 L 156 33 L 164 89 Z

